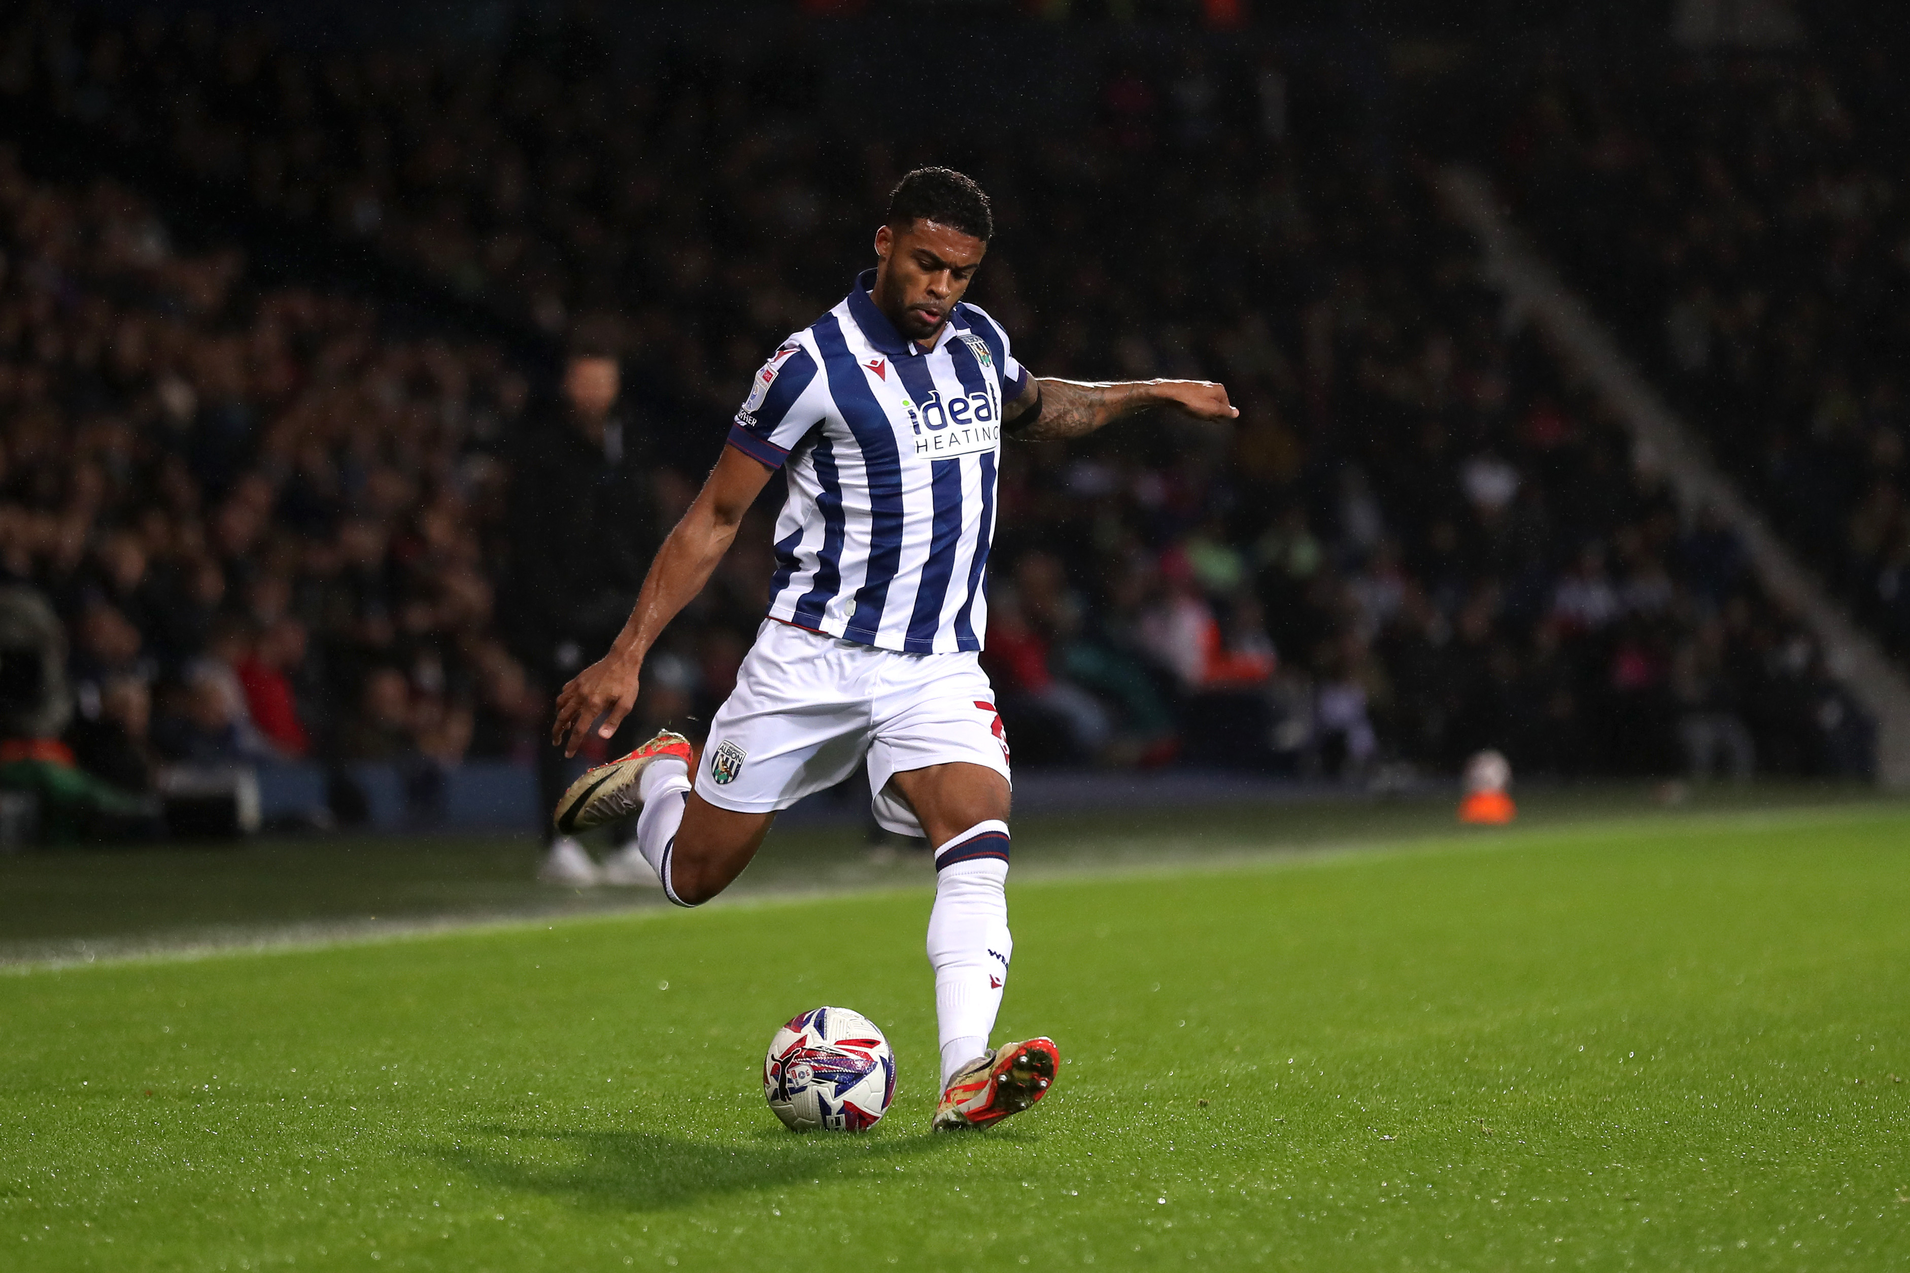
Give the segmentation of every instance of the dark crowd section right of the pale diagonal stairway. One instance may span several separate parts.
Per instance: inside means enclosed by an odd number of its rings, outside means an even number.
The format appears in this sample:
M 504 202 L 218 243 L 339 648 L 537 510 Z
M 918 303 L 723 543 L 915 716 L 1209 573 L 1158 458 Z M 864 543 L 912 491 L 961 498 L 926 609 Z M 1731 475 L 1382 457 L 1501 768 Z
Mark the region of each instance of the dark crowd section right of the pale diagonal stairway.
M 1855 53 L 1551 67 L 1507 185 L 1721 464 L 1910 655 L 1910 94 Z

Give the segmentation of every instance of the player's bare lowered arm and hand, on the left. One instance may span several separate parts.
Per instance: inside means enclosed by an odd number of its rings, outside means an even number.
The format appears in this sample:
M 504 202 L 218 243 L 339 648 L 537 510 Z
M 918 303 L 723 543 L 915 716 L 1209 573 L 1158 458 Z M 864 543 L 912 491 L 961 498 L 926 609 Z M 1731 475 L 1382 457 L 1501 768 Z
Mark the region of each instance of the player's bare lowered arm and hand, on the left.
M 607 739 L 617 733 L 617 725 L 636 706 L 644 657 L 678 611 L 703 592 L 716 563 L 730 552 L 743 513 L 768 481 L 766 466 L 735 447 L 724 447 L 690 511 L 649 563 L 644 590 L 636 595 L 636 609 L 611 641 L 609 653 L 571 678 L 558 695 L 558 720 L 550 729 L 550 741 L 562 746 L 565 756 L 577 754 L 584 731 L 598 716 L 604 718 L 598 737 Z

